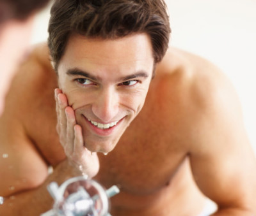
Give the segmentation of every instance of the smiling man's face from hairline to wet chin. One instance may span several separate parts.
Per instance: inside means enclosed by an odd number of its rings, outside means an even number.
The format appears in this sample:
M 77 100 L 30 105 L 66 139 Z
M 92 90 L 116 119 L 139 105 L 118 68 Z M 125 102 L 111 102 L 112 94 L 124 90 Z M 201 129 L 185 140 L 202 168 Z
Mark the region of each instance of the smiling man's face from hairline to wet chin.
M 59 85 L 89 150 L 115 147 L 144 104 L 153 68 L 145 34 L 118 40 L 70 38 L 58 67 Z

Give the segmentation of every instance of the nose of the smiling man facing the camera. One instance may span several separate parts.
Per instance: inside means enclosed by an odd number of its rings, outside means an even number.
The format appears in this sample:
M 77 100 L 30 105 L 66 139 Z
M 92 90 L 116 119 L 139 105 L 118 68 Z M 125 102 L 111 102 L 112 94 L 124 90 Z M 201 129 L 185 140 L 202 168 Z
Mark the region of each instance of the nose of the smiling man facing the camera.
M 116 120 L 118 103 L 118 92 L 115 89 L 102 89 L 92 105 L 92 112 L 102 122 L 112 122 Z

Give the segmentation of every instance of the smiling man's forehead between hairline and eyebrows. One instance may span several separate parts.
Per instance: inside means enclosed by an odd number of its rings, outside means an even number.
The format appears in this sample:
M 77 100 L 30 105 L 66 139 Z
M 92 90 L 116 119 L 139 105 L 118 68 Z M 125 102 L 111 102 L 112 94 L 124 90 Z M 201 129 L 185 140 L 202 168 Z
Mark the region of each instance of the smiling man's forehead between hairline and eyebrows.
M 91 73 L 104 70 L 150 70 L 153 64 L 152 46 L 147 34 L 134 34 L 116 40 L 88 39 L 74 35 L 68 40 L 58 71 L 70 68 Z

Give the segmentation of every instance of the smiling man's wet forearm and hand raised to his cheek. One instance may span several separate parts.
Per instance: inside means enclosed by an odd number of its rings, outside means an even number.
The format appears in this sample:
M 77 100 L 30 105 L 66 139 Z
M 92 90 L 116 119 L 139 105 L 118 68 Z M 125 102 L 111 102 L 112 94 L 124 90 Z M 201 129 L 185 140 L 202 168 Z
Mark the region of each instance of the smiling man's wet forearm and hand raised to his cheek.
M 60 90 L 56 92 L 61 94 Z M 59 98 L 60 102 L 56 103 L 59 119 L 58 131 L 67 159 L 54 168 L 53 173 L 42 185 L 35 189 L 17 191 L 5 198 L 3 205 L 0 206 L 0 215 L 40 215 L 52 208 L 53 200 L 47 192 L 49 183 L 54 181 L 60 185 L 68 178 L 79 176 L 82 173 L 90 177 L 97 174 L 99 170 L 97 154 L 91 154 L 84 148 L 81 127 L 76 125 L 73 110 L 67 106 L 65 95 L 61 94 Z M 58 101 L 58 94 L 56 94 L 56 100 Z

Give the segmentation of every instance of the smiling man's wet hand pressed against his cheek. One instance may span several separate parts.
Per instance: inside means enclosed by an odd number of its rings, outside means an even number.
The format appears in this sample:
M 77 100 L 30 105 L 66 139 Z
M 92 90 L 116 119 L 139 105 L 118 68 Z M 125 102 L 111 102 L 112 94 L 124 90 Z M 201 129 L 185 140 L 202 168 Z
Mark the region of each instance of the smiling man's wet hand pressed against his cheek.
M 67 159 L 81 173 L 93 177 L 99 171 L 99 160 L 96 153 L 84 147 L 82 128 L 76 124 L 74 110 L 68 106 L 68 100 L 60 89 L 55 89 L 57 131 L 60 143 Z

